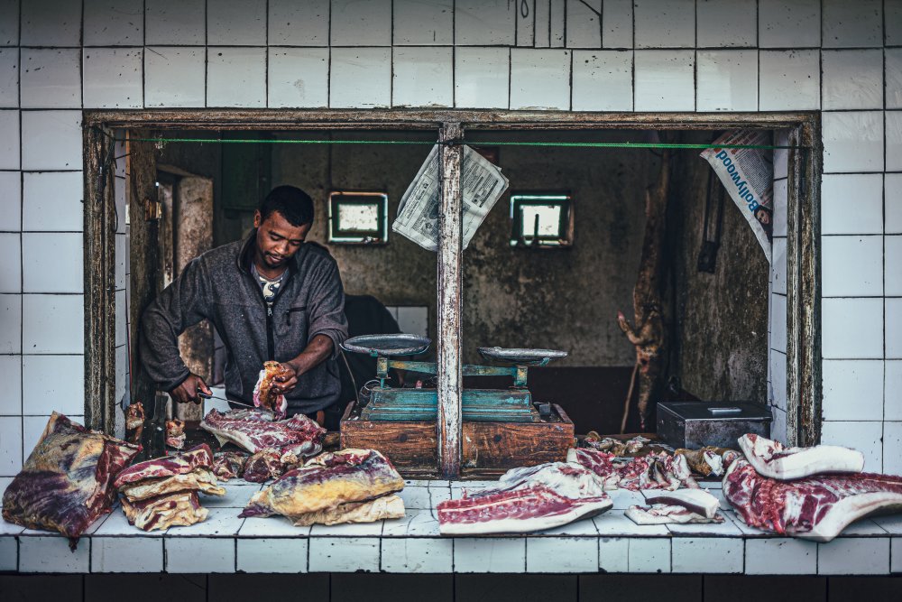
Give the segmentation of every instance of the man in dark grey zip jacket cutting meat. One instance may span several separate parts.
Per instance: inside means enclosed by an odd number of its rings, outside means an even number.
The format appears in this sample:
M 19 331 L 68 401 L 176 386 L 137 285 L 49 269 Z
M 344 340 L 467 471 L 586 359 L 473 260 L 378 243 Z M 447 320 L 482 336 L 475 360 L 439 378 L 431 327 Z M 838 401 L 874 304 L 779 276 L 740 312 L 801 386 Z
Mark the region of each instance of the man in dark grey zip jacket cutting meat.
M 345 292 L 336 261 L 305 245 L 313 200 L 294 186 L 273 189 L 244 240 L 207 251 L 144 310 L 140 352 L 147 374 L 178 403 L 200 403 L 207 383 L 185 366 L 178 337 L 209 320 L 226 345 L 226 396 L 253 404 L 266 361 L 284 368 L 273 391 L 288 414 L 323 421 L 339 400 L 339 345 L 347 338 Z M 332 413 L 332 412 L 330 412 Z

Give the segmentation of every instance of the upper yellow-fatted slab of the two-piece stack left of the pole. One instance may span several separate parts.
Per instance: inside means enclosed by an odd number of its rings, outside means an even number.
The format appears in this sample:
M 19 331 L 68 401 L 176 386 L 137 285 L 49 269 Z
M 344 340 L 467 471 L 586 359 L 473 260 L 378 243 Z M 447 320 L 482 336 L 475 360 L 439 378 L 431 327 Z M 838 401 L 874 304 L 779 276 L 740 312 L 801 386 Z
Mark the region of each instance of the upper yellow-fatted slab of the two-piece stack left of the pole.
M 374 449 L 342 449 L 308 460 L 258 491 L 240 514 L 300 516 L 400 491 L 404 479 Z

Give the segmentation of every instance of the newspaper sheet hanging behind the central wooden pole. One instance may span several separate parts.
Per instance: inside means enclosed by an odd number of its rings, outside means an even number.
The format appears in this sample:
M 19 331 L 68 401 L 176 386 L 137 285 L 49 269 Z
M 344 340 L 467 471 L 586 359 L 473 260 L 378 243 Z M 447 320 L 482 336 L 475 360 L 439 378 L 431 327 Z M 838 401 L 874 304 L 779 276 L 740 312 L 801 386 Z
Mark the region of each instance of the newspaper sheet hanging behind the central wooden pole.
M 436 144 L 401 197 L 398 217 L 391 224 L 392 230 L 429 251 L 438 250 L 438 205 L 442 191 L 438 155 Z M 464 146 L 460 173 L 464 248 L 507 187 L 508 179 L 502 175 L 501 168 Z

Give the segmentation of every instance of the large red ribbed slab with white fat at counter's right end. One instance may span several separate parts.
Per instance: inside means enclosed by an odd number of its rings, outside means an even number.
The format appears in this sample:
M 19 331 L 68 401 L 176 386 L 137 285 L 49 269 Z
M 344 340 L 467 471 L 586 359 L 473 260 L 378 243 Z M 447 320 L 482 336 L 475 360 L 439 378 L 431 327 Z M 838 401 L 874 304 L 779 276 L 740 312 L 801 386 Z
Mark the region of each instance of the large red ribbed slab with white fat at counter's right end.
M 868 514 L 902 510 L 902 477 L 833 474 L 780 481 L 737 459 L 723 476 L 723 495 L 750 526 L 829 542 Z

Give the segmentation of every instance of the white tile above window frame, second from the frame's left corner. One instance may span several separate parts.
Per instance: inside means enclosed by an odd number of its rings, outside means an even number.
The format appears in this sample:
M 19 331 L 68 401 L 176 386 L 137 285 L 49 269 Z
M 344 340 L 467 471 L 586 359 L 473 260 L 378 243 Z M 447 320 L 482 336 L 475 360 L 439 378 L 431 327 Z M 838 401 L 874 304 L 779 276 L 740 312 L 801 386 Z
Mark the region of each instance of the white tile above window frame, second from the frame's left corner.
M 148 46 L 144 51 L 146 107 L 203 107 L 207 53 L 187 46 Z

